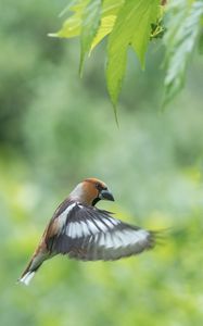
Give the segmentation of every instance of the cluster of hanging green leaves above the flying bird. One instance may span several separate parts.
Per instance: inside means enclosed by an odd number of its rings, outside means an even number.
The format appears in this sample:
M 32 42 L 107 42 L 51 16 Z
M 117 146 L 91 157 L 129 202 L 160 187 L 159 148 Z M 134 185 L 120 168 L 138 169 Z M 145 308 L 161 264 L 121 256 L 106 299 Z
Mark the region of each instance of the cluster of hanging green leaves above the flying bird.
M 115 114 L 129 48 L 143 68 L 149 42 L 164 43 L 163 105 L 182 88 L 191 54 L 198 43 L 201 48 L 202 0 L 73 0 L 62 15 L 67 16 L 62 28 L 50 36 L 79 36 L 80 72 L 86 54 L 107 39 L 106 86 Z

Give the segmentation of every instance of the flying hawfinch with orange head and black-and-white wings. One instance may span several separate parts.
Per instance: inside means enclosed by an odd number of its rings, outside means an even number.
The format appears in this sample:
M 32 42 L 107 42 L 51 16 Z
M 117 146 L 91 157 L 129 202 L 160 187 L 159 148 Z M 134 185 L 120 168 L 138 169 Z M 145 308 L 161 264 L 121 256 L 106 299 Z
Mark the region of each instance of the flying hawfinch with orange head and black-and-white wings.
M 59 253 L 81 261 L 113 261 L 154 247 L 156 233 L 97 209 L 102 199 L 114 201 L 101 180 L 88 178 L 78 184 L 54 212 L 18 280 L 28 285 L 42 263 Z

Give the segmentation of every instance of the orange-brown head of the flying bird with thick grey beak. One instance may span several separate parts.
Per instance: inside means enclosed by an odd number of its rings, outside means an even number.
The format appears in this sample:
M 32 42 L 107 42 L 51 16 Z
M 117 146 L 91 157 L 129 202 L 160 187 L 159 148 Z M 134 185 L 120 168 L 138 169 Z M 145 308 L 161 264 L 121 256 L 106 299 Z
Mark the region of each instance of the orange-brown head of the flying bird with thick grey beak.
M 96 205 L 102 199 L 114 201 L 107 186 L 97 178 L 87 178 L 78 184 L 71 192 L 69 198 L 87 205 Z

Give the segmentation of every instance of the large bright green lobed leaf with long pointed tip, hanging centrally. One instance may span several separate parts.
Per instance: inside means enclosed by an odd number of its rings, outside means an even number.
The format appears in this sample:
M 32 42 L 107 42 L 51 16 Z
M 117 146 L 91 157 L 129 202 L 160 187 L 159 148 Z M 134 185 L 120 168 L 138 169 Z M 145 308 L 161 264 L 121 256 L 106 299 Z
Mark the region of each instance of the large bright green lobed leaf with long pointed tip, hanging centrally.
M 158 0 L 128 0 L 118 12 L 109 38 L 106 66 L 107 89 L 114 106 L 126 70 L 128 46 L 132 46 L 143 66 L 151 24 L 156 21 L 158 3 Z

